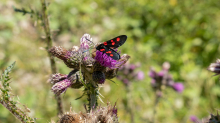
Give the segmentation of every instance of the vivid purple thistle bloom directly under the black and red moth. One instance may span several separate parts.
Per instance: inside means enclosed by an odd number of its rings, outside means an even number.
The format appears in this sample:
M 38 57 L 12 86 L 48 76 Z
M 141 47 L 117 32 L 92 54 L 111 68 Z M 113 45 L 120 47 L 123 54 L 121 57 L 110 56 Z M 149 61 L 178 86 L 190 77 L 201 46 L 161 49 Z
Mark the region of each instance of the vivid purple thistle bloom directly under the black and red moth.
M 110 56 L 100 52 L 99 50 L 96 51 L 95 60 L 98 61 L 102 66 L 109 67 L 110 69 L 118 68 L 124 63 L 123 61 L 112 59 Z

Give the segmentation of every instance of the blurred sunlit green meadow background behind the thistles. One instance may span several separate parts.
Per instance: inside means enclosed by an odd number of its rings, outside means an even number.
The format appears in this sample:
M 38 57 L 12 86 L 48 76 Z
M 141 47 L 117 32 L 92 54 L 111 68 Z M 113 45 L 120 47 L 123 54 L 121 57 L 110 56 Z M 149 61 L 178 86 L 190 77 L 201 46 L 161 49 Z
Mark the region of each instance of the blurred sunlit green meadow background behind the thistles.
M 71 48 L 79 45 L 81 36 L 89 33 L 94 42 L 103 42 L 126 34 L 122 54 L 131 56 L 130 63 L 141 63 L 145 79 L 131 85 L 132 110 L 135 123 L 151 121 L 155 94 L 148 71 L 151 66 L 159 71 L 163 62 L 171 64 L 170 72 L 177 82 L 183 82 L 182 94 L 166 89 L 157 107 L 158 123 L 185 123 L 196 115 L 202 119 L 217 112 L 220 103 L 218 77 L 206 68 L 215 62 L 220 50 L 219 0 L 50 0 L 50 26 L 54 46 Z M 37 122 L 57 121 L 56 102 L 47 82 L 51 71 L 44 31 L 41 23 L 30 15 L 13 10 L 25 8 L 41 11 L 39 0 L 3 0 L 0 3 L 0 69 L 16 61 L 11 73 L 14 99 L 31 109 L 30 116 Z M 56 59 L 60 73 L 71 69 Z M 100 89 L 105 103 L 117 101 L 119 121 L 129 123 L 123 99 L 122 82 L 105 82 Z M 62 95 L 65 111 L 84 110 L 86 97 L 82 89 L 68 89 Z M 24 106 L 20 104 L 21 108 Z M 99 104 L 106 106 L 99 101 Z M 0 122 L 18 122 L 0 105 Z

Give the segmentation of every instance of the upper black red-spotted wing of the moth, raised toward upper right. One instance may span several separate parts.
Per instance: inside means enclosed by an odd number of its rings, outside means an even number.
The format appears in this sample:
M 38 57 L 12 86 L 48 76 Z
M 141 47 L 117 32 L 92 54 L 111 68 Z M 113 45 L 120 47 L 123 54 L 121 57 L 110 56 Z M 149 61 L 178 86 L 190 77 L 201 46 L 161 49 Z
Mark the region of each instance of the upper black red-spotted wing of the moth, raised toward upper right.
M 111 48 L 115 49 L 115 48 L 118 48 L 121 45 L 123 45 L 126 40 L 127 40 L 126 35 L 120 35 L 120 36 L 117 36 L 111 40 L 104 42 L 103 45 L 106 47 L 111 47 Z

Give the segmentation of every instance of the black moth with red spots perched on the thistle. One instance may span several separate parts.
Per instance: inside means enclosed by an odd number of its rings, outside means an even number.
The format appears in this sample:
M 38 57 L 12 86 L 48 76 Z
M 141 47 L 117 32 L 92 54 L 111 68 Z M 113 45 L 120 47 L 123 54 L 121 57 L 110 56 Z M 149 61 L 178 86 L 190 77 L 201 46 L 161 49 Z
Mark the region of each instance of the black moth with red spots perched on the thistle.
M 106 41 L 96 47 L 97 50 L 103 52 L 113 58 L 114 60 L 120 59 L 120 55 L 113 49 L 120 47 L 127 40 L 126 35 L 117 36 L 109 41 Z

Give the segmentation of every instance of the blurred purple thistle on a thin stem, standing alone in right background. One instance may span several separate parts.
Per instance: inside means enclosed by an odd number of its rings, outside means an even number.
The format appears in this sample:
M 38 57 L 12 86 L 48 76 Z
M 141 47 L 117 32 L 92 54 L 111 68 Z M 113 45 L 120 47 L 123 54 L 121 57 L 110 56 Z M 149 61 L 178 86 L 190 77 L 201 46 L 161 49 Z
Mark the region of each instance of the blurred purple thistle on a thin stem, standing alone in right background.
M 153 123 L 155 122 L 156 107 L 159 103 L 160 98 L 163 95 L 163 90 L 166 87 L 173 88 L 176 92 L 181 93 L 184 90 L 184 85 L 180 82 L 174 82 L 172 76 L 168 73 L 170 69 L 170 64 L 164 62 L 162 65 L 162 70 L 156 72 L 151 68 L 149 76 L 151 77 L 151 86 L 155 91 L 155 104 L 154 104 L 154 116 Z

